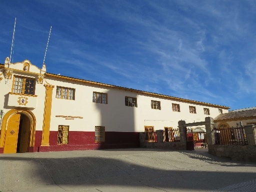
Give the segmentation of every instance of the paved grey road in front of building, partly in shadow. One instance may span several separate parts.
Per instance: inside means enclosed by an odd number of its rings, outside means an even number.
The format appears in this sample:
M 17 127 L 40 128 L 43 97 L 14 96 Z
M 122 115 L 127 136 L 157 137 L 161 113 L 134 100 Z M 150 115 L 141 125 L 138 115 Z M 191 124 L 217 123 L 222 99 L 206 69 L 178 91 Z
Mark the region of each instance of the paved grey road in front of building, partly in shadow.
M 0 191 L 256 191 L 256 163 L 204 148 L 0 154 Z

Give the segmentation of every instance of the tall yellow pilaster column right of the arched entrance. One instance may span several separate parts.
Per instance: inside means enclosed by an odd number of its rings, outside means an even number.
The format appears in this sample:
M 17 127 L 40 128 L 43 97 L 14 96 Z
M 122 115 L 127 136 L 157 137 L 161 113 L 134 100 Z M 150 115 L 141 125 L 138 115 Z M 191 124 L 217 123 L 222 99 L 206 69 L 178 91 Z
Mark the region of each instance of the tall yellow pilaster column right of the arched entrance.
M 45 98 L 44 98 L 41 146 L 49 146 L 51 101 L 52 101 L 52 89 L 54 88 L 54 85 L 44 84 L 44 86 L 45 86 Z

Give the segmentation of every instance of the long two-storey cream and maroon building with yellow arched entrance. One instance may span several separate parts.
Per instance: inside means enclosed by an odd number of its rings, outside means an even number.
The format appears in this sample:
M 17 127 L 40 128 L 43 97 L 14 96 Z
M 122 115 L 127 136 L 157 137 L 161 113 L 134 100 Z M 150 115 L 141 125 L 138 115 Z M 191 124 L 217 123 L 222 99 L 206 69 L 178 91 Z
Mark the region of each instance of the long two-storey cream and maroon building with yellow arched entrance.
M 145 129 L 203 121 L 226 106 L 0 64 L 0 153 L 139 147 Z

